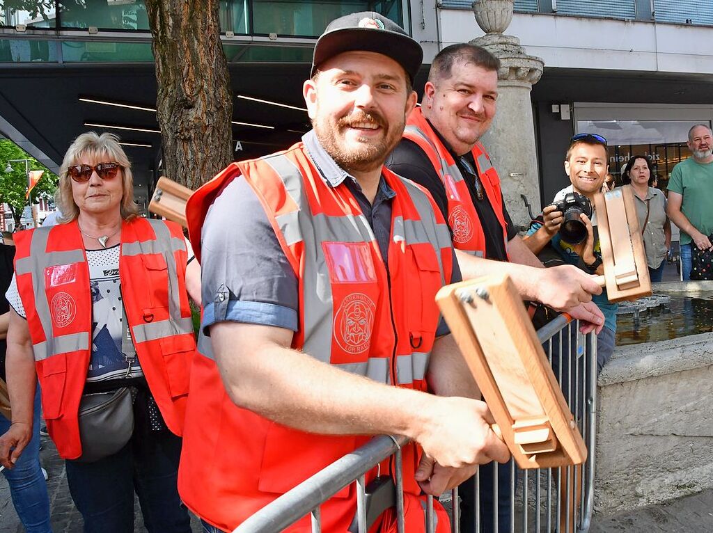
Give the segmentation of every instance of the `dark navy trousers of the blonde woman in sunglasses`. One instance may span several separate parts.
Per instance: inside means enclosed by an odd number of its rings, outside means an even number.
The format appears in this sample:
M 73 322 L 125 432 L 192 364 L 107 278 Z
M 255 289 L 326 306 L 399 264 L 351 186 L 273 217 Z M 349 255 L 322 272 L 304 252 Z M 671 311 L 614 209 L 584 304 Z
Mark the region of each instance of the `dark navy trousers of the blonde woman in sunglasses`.
M 180 449 L 181 439 L 168 430 L 135 427 L 114 455 L 96 462 L 67 460 L 69 492 L 84 519 L 84 533 L 133 532 L 134 490 L 148 532 L 191 533 L 178 497 Z

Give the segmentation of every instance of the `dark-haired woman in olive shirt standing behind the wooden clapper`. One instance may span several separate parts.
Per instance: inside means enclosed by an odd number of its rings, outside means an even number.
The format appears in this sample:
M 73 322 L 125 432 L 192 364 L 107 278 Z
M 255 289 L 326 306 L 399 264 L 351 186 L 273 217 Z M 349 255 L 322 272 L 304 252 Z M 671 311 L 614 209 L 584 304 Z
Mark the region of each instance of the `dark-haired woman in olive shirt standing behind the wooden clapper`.
M 650 185 L 655 180 L 651 162 L 644 155 L 633 156 L 622 170 L 622 182 L 634 191 L 636 213 L 644 239 L 646 262 L 652 282 L 661 281 L 671 246 L 671 221 L 666 216 L 664 193 Z

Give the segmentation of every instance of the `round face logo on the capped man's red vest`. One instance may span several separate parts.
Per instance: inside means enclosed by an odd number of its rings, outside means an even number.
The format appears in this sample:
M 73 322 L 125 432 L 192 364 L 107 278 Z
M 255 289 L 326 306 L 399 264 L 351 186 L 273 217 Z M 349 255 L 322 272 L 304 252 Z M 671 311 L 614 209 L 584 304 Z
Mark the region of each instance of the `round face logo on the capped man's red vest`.
M 376 306 L 369 296 L 359 292 L 349 294 L 334 316 L 334 338 L 347 353 L 362 353 L 369 349 L 374 330 Z

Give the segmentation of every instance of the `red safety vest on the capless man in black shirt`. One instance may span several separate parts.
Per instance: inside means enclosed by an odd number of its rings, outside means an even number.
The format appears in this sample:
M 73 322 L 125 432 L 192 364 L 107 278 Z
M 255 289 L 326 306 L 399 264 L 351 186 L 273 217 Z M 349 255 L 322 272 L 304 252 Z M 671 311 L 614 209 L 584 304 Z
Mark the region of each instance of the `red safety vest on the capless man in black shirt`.
M 486 237 L 478 213 L 473 206 L 471 192 L 463 179 L 461 170 L 456 165 L 451 152 L 443 145 L 429 121 L 426 120 L 421 108 L 416 108 L 409 115 L 406 122 L 404 138 L 419 145 L 429 156 L 431 164 L 438 172 L 438 177 L 443 182 L 448 198 L 448 226 L 453 234 L 453 247 L 470 252 L 478 257 L 486 257 Z M 490 156 L 481 143 L 476 143 L 471 150 L 473 160 L 476 162 L 478 177 L 483 183 L 483 189 L 488 197 L 488 202 L 493 206 L 493 211 L 498 217 L 503 228 L 503 241 L 508 249 L 508 228 L 503 214 L 503 194 L 500 190 L 500 177 L 491 163 Z

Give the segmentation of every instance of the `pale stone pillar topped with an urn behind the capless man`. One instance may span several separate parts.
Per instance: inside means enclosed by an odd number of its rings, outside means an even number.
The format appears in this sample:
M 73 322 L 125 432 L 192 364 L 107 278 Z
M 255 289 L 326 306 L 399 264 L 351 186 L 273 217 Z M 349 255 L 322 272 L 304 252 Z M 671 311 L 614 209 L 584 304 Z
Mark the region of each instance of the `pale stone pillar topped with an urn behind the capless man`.
M 517 37 L 503 35 L 513 19 L 513 0 L 475 0 L 473 12 L 486 35 L 471 41 L 501 61 L 498 111 L 481 139 L 501 177 L 503 195 L 515 225 L 530 222 L 520 195 L 533 213 L 540 212 L 540 179 L 530 91 L 542 76 L 544 63 L 528 56 Z

